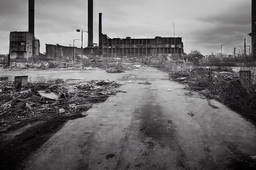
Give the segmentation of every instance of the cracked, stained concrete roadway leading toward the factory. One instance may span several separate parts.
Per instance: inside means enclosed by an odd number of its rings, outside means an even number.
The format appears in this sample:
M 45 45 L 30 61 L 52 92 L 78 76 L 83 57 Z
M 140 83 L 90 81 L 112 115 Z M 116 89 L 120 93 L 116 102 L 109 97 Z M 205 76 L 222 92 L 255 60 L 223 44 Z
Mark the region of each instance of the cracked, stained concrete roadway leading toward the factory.
M 223 104 L 184 90 L 166 73 L 150 67 L 81 73 L 80 78 L 116 80 L 127 93 L 68 121 L 25 169 L 228 170 L 256 155 L 254 125 Z M 138 84 L 147 81 L 151 84 Z

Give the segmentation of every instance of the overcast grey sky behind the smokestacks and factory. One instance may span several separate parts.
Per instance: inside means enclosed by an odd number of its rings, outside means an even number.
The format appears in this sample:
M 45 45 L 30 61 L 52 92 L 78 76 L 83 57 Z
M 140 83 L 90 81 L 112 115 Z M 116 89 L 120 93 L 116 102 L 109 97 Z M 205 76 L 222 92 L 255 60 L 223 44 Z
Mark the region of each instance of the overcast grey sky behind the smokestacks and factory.
M 182 37 L 184 52 L 196 49 L 203 55 L 220 52 L 220 44 L 247 38 L 251 45 L 251 0 L 94 0 L 93 42 L 98 40 L 99 13 L 102 33 L 110 38 Z M 28 0 L 0 0 L 0 54 L 9 53 L 10 31 L 28 31 Z M 45 44 L 73 46 L 87 30 L 87 0 L 35 0 L 35 37 L 40 52 Z M 88 44 L 83 33 L 83 46 Z M 81 41 L 75 41 L 81 47 Z M 223 46 L 232 53 L 243 40 Z

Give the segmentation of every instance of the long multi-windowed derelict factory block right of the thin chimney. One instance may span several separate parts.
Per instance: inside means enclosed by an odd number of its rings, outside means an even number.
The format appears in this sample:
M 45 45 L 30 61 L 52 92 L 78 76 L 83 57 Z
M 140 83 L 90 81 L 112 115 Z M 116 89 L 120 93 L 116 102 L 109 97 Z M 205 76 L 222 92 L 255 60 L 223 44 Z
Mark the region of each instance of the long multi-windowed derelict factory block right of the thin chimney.
M 168 56 L 180 57 L 183 55 L 183 42 L 180 37 L 172 38 L 146 38 L 132 39 L 126 37 L 108 38 L 106 34 L 102 36 L 103 56 L 112 57 L 143 57 L 157 56 L 159 54 L 167 54 Z

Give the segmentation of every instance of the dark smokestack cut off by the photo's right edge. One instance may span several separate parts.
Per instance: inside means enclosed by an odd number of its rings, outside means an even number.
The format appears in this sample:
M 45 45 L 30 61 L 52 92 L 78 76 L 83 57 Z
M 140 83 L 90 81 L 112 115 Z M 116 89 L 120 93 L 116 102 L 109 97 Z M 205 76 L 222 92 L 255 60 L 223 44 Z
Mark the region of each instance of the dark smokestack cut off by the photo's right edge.
M 256 58 L 256 2 L 252 0 L 252 57 Z

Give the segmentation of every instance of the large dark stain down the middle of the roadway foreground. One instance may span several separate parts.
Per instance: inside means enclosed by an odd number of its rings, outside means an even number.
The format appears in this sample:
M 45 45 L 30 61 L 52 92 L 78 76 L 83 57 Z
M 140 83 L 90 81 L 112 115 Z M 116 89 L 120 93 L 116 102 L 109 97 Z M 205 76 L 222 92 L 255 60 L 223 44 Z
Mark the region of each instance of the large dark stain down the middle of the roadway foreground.
M 166 121 L 166 117 L 158 104 L 151 102 L 145 104 L 143 107 L 136 109 L 134 115 L 135 119 L 140 120 L 139 133 L 141 133 L 141 139 L 144 140 L 144 144 L 147 145 L 146 148 L 148 148 L 149 153 L 146 153 L 149 157 L 152 156 L 153 150 L 162 148 L 175 150 L 177 151 L 177 166 L 182 167 L 184 170 L 190 169 L 189 165 L 186 164 L 186 154 L 177 141 L 177 132 L 172 124 L 173 121 L 171 119 Z M 155 167 L 164 168 L 163 165 L 155 165 Z

